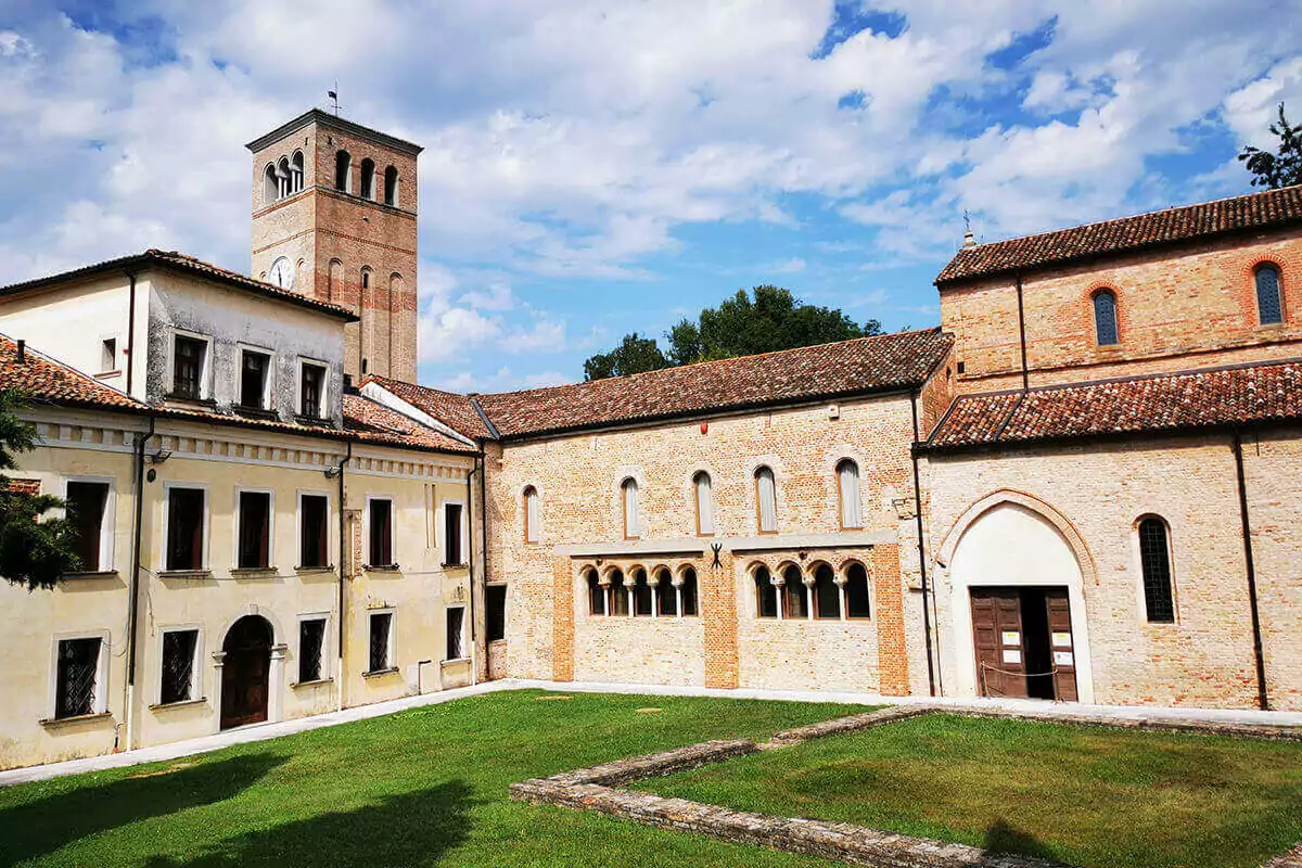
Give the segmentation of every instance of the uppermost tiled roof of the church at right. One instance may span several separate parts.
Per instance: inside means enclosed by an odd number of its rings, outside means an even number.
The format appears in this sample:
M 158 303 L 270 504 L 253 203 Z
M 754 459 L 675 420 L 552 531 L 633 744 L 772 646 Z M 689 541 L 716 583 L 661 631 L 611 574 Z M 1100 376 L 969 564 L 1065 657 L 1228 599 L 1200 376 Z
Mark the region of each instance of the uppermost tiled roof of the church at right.
M 1302 186 L 1267 190 L 966 247 L 940 272 L 936 286 L 1295 223 L 1302 223 Z

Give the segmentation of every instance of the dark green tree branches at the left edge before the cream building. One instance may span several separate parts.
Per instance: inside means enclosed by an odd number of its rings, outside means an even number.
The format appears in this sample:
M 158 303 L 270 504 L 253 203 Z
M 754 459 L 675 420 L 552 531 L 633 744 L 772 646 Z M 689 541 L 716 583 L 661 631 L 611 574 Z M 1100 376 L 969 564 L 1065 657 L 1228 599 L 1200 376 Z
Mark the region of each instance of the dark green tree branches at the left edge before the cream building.
M 39 439 L 16 410 L 20 396 L 0 389 L 0 575 L 27 590 L 52 588 L 64 573 L 81 567 L 74 550 L 77 530 L 69 518 L 40 518 L 65 504 L 49 495 L 31 495 L 10 484 L 16 454 L 31 452 Z

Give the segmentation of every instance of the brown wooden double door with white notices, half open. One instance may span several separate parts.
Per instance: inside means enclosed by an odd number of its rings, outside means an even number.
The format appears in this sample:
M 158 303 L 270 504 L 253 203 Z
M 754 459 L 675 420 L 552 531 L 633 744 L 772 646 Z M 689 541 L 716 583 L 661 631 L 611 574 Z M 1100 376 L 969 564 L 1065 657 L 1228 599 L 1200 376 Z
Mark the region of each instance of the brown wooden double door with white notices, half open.
M 1077 700 L 1066 588 L 971 588 L 971 609 L 982 696 Z

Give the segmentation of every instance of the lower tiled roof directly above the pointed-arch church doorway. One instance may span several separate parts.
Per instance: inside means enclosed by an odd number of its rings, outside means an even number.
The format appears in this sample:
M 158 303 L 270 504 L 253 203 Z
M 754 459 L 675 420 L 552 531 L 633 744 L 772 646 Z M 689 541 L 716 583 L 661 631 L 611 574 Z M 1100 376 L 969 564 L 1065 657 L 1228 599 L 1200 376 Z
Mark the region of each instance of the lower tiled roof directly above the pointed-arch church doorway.
M 1302 419 L 1302 362 L 960 396 L 927 450 Z

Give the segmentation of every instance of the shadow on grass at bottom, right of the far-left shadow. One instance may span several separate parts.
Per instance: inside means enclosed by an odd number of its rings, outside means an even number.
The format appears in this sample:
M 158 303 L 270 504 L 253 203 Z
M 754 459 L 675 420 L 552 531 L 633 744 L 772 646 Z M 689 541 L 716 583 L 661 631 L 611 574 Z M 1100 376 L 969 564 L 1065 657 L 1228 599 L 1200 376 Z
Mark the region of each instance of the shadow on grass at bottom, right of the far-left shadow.
M 323 813 L 227 838 L 194 856 L 156 856 L 146 868 L 234 865 L 435 864 L 465 841 L 470 787 L 449 781 L 428 790 L 385 796 L 355 811 Z

